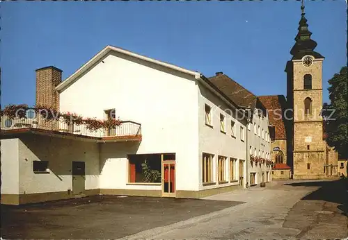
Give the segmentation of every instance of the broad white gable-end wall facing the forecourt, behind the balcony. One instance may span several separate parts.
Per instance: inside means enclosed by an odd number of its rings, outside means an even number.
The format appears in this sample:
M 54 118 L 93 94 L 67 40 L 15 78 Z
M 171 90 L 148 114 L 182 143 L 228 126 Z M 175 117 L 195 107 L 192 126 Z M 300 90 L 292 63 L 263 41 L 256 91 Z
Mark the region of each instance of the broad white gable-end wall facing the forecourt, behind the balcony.
M 60 94 L 60 110 L 103 119 L 116 117 L 141 123 L 143 139 L 132 153 L 176 153 L 177 190 L 198 190 L 198 92 L 196 80 L 121 53 L 108 55 Z M 136 145 L 136 143 L 130 143 Z M 101 160 L 100 188 L 160 189 L 127 185 L 125 149 Z M 109 151 L 101 147 L 101 155 Z M 187 180 L 190 178 L 190 180 Z

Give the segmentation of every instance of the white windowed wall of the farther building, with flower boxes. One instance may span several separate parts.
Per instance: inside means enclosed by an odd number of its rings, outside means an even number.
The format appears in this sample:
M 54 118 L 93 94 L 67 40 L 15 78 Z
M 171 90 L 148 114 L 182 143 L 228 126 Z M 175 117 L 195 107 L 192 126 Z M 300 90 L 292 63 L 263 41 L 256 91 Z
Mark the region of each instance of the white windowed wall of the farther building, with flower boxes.
M 254 123 L 256 125 L 256 134 L 254 130 Z M 260 126 L 260 137 L 258 135 L 258 127 Z M 251 127 L 250 130 L 248 130 L 248 154 L 250 153 L 252 155 L 262 157 L 262 151 L 264 152 L 264 159 L 271 160 L 271 139 L 269 136 L 269 119 L 268 115 L 264 116 L 263 118 L 259 116 L 258 110 L 253 111 L 253 119 L 251 121 Z M 264 130 L 264 138 L 262 139 L 262 129 Z M 250 146 L 251 146 L 251 152 L 250 152 Z M 255 151 L 256 148 L 256 151 Z M 260 151 L 260 155 L 259 155 Z M 269 171 L 270 180 L 271 180 L 271 167 L 266 166 L 266 164 L 258 164 L 256 166 L 255 163 L 253 163 L 253 166 L 251 166 L 251 162 L 248 161 L 249 164 L 249 173 L 256 173 L 256 181 L 255 184 L 259 184 L 262 182 L 262 172 L 264 172 L 264 175 L 266 175 L 267 171 Z

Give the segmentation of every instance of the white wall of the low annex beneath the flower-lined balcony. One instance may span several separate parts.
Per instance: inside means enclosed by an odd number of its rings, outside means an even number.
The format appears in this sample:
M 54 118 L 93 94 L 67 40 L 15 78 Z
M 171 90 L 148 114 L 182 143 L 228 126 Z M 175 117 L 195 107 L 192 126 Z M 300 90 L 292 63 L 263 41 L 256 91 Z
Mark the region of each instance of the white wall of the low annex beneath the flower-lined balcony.
M 99 188 L 99 147 L 58 137 L 28 135 L 19 139 L 19 194 L 72 190 L 72 161 L 86 164 L 85 189 Z M 49 173 L 34 173 L 33 161 L 48 161 Z

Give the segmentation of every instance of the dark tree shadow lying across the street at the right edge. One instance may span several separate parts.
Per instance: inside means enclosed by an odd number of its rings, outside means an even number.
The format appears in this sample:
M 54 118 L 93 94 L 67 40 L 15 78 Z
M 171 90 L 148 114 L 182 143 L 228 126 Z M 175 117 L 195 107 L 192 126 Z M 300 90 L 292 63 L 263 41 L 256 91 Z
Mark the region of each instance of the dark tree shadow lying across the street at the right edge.
M 324 200 L 338 203 L 338 209 L 348 216 L 348 178 L 335 181 L 294 182 L 286 184 L 292 187 L 319 187 L 301 200 Z

